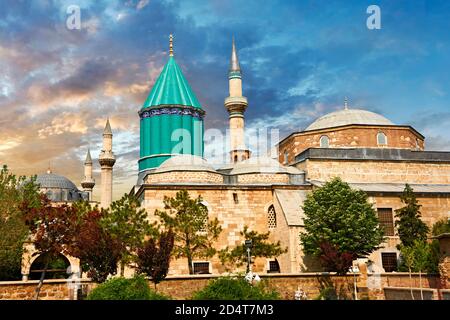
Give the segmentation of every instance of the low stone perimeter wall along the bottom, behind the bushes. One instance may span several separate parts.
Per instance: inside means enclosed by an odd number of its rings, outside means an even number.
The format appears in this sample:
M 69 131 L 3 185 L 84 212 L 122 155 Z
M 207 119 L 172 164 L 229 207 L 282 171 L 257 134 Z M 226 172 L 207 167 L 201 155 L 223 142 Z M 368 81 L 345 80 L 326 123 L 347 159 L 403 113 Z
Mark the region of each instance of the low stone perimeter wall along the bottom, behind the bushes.
M 170 295 L 174 299 L 190 299 L 194 292 L 205 287 L 211 279 L 219 276 L 195 275 L 195 276 L 169 276 L 157 286 L 157 291 Z M 416 292 L 419 288 L 418 274 L 412 275 L 409 279 L 407 273 L 398 274 L 377 274 L 364 276 L 356 274 L 347 276 L 336 276 L 326 273 L 298 273 L 298 274 L 270 274 L 261 275 L 269 288 L 278 291 L 282 299 L 293 300 L 296 290 L 306 292 L 308 299 L 314 299 L 319 295 L 321 288 L 332 286 L 340 293 L 341 297 L 353 298 L 354 281 L 358 287 L 359 299 L 383 300 L 408 299 L 410 296 L 409 286 L 413 285 Z M 439 277 L 434 275 L 422 276 L 422 287 L 426 292 L 433 292 L 433 299 L 450 297 L 450 290 L 437 290 Z M 0 282 L 0 300 L 31 300 L 34 297 L 34 290 L 38 281 L 9 281 Z M 85 293 L 90 292 L 96 284 L 89 280 L 81 280 L 81 285 Z M 153 283 L 150 283 L 153 288 Z M 386 291 L 387 290 L 387 291 Z M 397 292 L 397 293 L 396 293 Z M 428 295 L 428 293 L 426 294 Z M 40 299 L 42 300 L 73 300 L 77 298 L 73 284 L 66 280 L 46 280 L 41 289 Z

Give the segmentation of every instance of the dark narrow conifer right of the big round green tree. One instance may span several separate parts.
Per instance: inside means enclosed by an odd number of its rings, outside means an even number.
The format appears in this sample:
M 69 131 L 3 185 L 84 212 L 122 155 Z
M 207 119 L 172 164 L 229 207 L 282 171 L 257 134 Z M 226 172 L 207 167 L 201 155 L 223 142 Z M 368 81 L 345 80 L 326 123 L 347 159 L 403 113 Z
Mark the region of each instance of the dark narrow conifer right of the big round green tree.
M 400 199 L 405 204 L 404 207 L 395 210 L 395 226 L 398 230 L 400 241 L 404 246 L 412 246 L 415 240 L 425 241 L 429 228 L 420 219 L 420 207 L 414 194 L 413 189 L 409 184 L 405 185 L 403 194 Z

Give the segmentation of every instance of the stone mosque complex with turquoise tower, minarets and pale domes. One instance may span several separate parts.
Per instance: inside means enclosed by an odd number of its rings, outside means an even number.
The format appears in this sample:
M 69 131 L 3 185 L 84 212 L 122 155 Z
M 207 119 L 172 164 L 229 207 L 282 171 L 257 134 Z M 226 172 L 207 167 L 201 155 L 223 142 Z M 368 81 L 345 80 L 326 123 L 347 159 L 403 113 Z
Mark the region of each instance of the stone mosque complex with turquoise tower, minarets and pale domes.
M 270 240 L 279 240 L 288 251 L 277 259 L 256 259 L 253 270 L 299 273 L 318 271 L 304 259 L 299 241 L 303 201 L 311 190 L 333 177 L 341 177 L 353 188 L 365 191 L 385 228 L 383 247 L 368 257 L 372 262 L 369 270 L 374 272 L 396 269 L 399 237 L 394 210 L 402 207 L 399 196 L 405 183 L 413 187 L 422 205 L 424 222 L 431 226 L 437 220 L 450 218 L 450 152 L 426 151 L 425 137 L 413 127 L 349 107 L 345 101 L 342 110 L 326 114 L 305 130 L 282 139 L 278 159 L 253 157 L 245 145 L 248 101 L 242 92 L 234 40 L 228 79 L 229 95 L 224 106 L 229 113 L 229 164 L 214 168 L 203 156 L 206 113 L 175 61 L 171 39 L 169 59 L 138 112 L 139 173 L 131 192 L 141 200 L 150 219 L 155 218 L 156 209 L 163 209 L 164 196 L 175 196 L 186 189 L 191 197 L 200 195 L 209 218 L 218 218 L 221 223 L 218 250 L 241 244 L 244 239 L 239 233 L 244 225 L 258 232 L 270 231 Z M 109 122 L 103 138 L 99 157 L 101 206 L 107 207 L 111 203 L 115 163 Z M 45 181 L 57 180 L 51 173 L 47 175 L 40 178 L 45 191 L 50 189 Z M 69 200 L 63 195 L 89 198 L 95 184 L 89 152 L 83 191 L 77 191 L 69 182 L 61 183 L 61 196 L 58 191 L 55 201 Z M 193 264 L 195 273 L 225 272 L 217 256 Z M 187 273 L 185 260 L 172 261 L 169 274 Z

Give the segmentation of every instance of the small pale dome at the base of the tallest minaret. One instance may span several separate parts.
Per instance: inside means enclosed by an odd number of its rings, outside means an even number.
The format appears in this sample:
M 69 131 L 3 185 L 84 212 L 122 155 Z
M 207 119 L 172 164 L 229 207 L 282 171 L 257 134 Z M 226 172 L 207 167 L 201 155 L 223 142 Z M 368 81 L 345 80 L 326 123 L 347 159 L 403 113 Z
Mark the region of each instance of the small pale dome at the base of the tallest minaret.
M 269 157 L 253 157 L 234 165 L 230 174 L 245 174 L 245 173 L 291 173 L 300 174 L 301 171 L 293 168 L 283 166 L 280 162 Z

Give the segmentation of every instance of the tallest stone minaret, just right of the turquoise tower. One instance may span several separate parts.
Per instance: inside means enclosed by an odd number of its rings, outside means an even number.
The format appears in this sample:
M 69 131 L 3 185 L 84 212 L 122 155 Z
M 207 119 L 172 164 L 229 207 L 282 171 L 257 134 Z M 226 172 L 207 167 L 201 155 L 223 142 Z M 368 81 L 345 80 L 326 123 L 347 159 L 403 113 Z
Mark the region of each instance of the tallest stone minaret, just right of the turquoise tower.
M 231 50 L 230 70 L 228 71 L 230 96 L 225 98 L 225 108 L 230 114 L 230 157 L 231 162 L 250 158 L 250 151 L 245 146 L 244 112 L 247 109 L 247 98 L 242 96 L 241 67 L 233 44 Z

